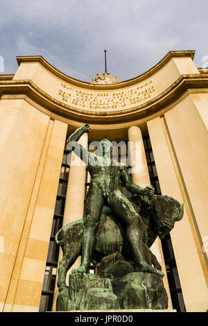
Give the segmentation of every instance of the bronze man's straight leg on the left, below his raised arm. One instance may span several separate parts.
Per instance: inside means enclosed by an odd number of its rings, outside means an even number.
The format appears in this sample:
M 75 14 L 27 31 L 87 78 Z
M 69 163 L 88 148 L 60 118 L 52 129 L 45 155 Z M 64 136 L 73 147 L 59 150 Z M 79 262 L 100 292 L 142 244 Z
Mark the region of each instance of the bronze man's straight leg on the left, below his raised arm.
M 97 185 L 91 185 L 85 203 L 86 225 L 82 242 L 82 264 L 72 273 L 87 273 L 92 261 L 94 241 L 99 219 L 104 205 L 103 191 Z

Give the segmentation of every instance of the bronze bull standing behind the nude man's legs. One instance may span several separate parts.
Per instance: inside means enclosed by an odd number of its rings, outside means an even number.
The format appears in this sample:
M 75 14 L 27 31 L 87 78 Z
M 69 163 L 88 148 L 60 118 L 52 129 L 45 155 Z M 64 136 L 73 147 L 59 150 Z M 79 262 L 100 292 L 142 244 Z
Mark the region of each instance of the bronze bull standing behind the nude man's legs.
M 142 218 L 143 250 L 146 252 L 148 264 L 153 265 L 161 271 L 157 258 L 150 251 L 157 236 L 163 239 L 174 227 L 175 221 L 180 221 L 183 216 L 184 205 L 172 197 L 153 195 L 132 196 L 128 198 Z M 58 288 L 59 291 L 67 287 L 66 275 L 69 268 L 74 264 L 82 252 L 82 239 L 85 230 L 85 218 L 79 221 L 64 225 L 55 235 L 55 241 L 61 246 L 63 257 L 58 267 Z M 132 261 L 130 246 L 125 234 L 124 226 L 114 216 L 111 209 L 107 209 L 99 221 L 96 232 L 96 241 L 92 255 L 92 262 L 96 264 L 103 257 L 119 252 L 126 261 Z M 135 271 L 139 271 L 135 267 Z M 164 276 L 161 272 L 161 276 Z

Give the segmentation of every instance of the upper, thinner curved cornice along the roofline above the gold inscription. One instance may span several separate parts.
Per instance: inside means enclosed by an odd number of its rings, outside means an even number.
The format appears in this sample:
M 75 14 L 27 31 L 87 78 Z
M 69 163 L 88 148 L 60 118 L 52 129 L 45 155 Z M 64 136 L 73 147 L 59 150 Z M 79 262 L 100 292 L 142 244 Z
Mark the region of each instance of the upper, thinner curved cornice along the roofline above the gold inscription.
M 61 80 L 71 84 L 76 85 L 78 87 L 82 87 L 84 89 L 94 89 L 94 90 L 110 90 L 110 89 L 121 89 L 123 87 L 129 87 L 132 85 L 135 85 L 137 83 L 141 83 L 142 81 L 146 80 L 147 78 L 150 78 L 155 74 L 157 71 L 162 69 L 168 61 L 171 60 L 171 58 L 184 58 L 189 57 L 193 60 L 195 51 L 169 51 L 162 60 L 157 62 L 157 64 L 148 69 L 148 71 L 144 72 L 144 74 L 141 74 L 135 78 L 131 78 L 128 80 L 121 81 L 120 83 L 116 84 L 110 84 L 110 85 L 94 85 L 92 83 L 87 83 L 82 80 L 78 80 L 76 78 L 72 78 L 71 76 L 68 76 L 67 74 L 62 73 L 62 71 L 56 69 L 51 65 L 49 62 L 47 62 L 42 55 L 28 55 L 28 56 L 17 56 L 17 63 L 18 65 L 21 65 L 21 63 L 34 63 L 39 62 L 40 65 L 42 65 L 46 70 L 50 71 L 51 74 L 54 76 L 60 78 Z

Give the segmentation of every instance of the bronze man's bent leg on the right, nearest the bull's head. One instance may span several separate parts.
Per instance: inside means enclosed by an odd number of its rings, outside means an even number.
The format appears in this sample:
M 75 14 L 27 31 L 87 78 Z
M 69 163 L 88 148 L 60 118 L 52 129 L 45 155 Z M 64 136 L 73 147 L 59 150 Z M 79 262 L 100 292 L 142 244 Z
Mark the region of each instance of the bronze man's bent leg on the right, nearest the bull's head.
M 164 274 L 159 269 L 151 266 L 146 246 L 146 227 L 141 216 L 136 212 L 130 200 L 121 194 L 121 191 L 114 191 L 108 198 L 109 205 L 117 218 L 120 218 L 126 228 L 126 235 L 130 243 L 132 256 L 137 265 L 138 271 Z M 148 248 L 149 250 L 149 248 Z

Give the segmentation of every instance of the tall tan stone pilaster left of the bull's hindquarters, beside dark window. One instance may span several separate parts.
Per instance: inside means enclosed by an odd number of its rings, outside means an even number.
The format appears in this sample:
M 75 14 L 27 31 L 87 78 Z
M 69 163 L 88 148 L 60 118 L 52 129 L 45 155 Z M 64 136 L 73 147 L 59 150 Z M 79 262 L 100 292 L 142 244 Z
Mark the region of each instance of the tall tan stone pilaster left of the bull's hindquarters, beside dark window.
M 49 122 L 3 311 L 39 311 L 66 134 Z

